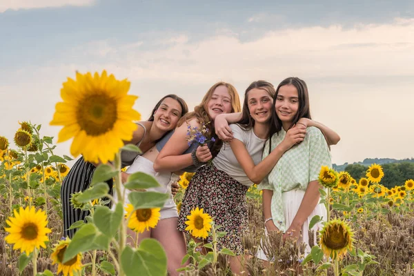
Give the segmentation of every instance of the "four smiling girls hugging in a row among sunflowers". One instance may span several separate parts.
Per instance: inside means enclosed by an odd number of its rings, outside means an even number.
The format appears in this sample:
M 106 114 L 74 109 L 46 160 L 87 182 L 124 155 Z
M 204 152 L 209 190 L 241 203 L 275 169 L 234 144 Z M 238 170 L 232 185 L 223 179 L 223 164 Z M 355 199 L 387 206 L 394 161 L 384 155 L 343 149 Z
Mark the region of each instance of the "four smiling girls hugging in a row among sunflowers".
M 200 129 L 206 124 L 210 142 L 189 145 L 188 128 Z M 180 174 L 195 175 L 180 213 L 170 196 L 161 208 L 157 227 L 140 234 L 139 241 L 157 239 L 166 250 L 169 275 L 178 275 L 176 270 L 187 248 L 185 221 L 191 210 L 204 208 L 215 225 L 221 226 L 220 231 L 226 231 L 217 249 L 233 250 L 236 256 L 230 257 L 230 268 L 239 274 L 243 270 L 242 236 L 248 230 L 246 192 L 251 185 L 259 184 L 266 233 L 279 230 L 284 237 L 297 237 L 298 242 L 308 244 L 309 222 L 314 215 L 326 214 L 324 205 L 319 204 L 319 170 L 331 167 L 329 146 L 339 139 L 333 130 L 311 120 L 308 88 L 297 77 L 284 79 L 276 89 L 268 81 L 254 81 L 246 89 L 242 108 L 237 90 L 225 82 L 215 83 L 193 112 L 188 112 L 180 97 L 166 95 L 148 121 L 137 123 L 132 141 L 126 141 L 139 146 L 143 154 L 122 155 L 123 164 L 130 165 L 122 179 L 130 173 L 146 172 L 161 184 L 154 190 L 171 194 L 171 184 Z M 206 166 L 210 160 L 212 164 Z M 75 229 L 68 229 L 70 225 L 88 215 L 88 211 L 74 208 L 70 197 L 89 187 L 94 170 L 94 164 L 80 158 L 63 180 L 67 237 L 75 233 Z M 112 181 L 108 185 L 112 189 Z M 314 226 L 315 233 L 319 227 Z M 129 234 L 135 237 L 132 230 Z M 212 238 L 206 241 L 212 242 Z M 262 250 L 257 257 L 266 260 Z

